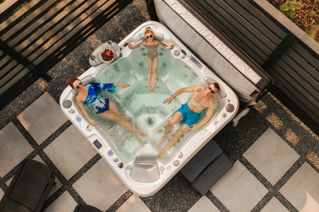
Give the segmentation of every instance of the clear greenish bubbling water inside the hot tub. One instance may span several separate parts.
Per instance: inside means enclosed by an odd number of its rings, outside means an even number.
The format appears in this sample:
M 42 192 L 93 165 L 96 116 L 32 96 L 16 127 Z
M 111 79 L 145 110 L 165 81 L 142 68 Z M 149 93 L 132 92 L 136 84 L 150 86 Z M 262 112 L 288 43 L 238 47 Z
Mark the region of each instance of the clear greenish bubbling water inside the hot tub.
M 147 57 L 145 57 L 146 55 L 142 48 L 140 50 L 132 50 L 129 57 L 120 58 L 116 61 L 116 64 L 106 67 L 98 79 L 100 83 L 131 84 L 126 89 L 117 87 L 115 94 L 103 91 L 100 96 L 109 98 L 110 101 L 114 102 L 123 118 L 132 123 L 136 129 L 148 133 L 148 137 L 140 137 L 144 145 L 141 145 L 137 138 L 121 125 L 101 118 L 90 107 L 85 105 L 89 116 L 98 123 L 96 129 L 108 141 L 113 151 L 124 163 L 134 160 L 140 154 L 158 154 L 182 124 L 182 122 L 175 124 L 161 147 L 155 149 L 154 146 L 163 136 L 167 122 L 172 118 L 176 110 L 180 108 L 181 104 L 189 102 L 192 94 L 183 93 L 169 105 L 164 105 L 163 101 L 179 88 L 204 85 L 200 75 L 188 64 L 175 59 L 170 51 L 165 51 L 165 49 L 163 51 L 162 48 L 158 48 L 158 52 L 160 53 L 157 67 L 158 79 L 157 89 L 154 92 L 150 92 L 148 88 L 148 67 L 144 66 L 144 64 L 147 64 Z M 121 71 L 116 72 L 116 70 Z M 215 95 L 214 98 L 217 103 L 217 109 L 214 110 L 213 116 L 221 106 L 219 96 Z M 201 113 L 201 119 L 205 115 L 206 110 Z M 167 163 L 174 158 L 192 134 L 194 134 L 194 131 L 184 133 L 175 146 L 167 150 L 161 161 Z

